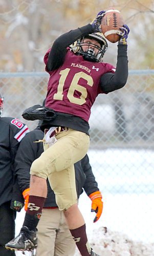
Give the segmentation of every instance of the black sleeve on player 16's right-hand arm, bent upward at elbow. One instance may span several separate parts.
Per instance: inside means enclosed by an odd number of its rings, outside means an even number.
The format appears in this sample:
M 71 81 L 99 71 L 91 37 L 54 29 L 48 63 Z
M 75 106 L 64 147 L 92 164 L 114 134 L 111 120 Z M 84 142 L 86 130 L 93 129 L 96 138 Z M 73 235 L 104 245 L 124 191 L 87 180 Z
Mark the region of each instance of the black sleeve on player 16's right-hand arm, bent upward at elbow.
M 125 86 L 128 77 L 127 45 L 118 45 L 116 72 L 106 73 L 100 79 L 104 93 L 113 92 Z

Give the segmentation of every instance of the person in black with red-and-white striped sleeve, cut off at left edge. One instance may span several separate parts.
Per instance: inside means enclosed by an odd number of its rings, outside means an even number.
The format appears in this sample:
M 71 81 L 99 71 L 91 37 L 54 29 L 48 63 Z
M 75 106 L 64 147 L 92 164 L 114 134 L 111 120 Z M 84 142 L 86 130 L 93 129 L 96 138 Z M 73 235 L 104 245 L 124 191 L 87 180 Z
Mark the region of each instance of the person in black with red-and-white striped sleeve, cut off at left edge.
M 4 246 L 14 237 L 16 211 L 24 206 L 23 195 L 14 175 L 14 158 L 28 127 L 13 117 L 1 117 L 3 97 L 0 93 L 0 255 L 15 256 Z

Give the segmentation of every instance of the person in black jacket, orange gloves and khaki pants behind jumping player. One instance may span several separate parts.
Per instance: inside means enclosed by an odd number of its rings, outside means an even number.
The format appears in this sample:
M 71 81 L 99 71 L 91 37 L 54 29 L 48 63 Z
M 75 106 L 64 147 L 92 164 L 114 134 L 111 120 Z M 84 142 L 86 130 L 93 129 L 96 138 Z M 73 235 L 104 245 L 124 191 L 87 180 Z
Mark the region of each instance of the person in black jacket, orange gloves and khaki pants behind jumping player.
M 20 190 L 25 198 L 25 209 L 27 210 L 29 200 L 30 186 L 30 167 L 32 162 L 37 159 L 43 152 L 43 144 L 37 143 L 39 139 L 43 139 L 43 132 L 39 126 L 28 133 L 21 141 L 16 157 L 16 174 Z M 92 172 L 89 157 L 86 155 L 82 160 L 74 164 L 77 196 L 82 194 L 83 188 L 90 198 L 100 194 L 98 184 Z M 37 225 L 38 246 L 36 249 L 37 256 L 63 256 L 74 255 L 75 242 L 72 239 L 70 230 L 65 222 L 63 212 L 58 209 L 55 201 L 55 194 L 48 183 L 48 195 L 45 205 L 42 209 L 42 215 Z M 100 218 L 103 208 L 101 198 L 97 198 L 92 202 L 92 209 L 95 208 L 96 200 L 98 212 L 95 222 Z

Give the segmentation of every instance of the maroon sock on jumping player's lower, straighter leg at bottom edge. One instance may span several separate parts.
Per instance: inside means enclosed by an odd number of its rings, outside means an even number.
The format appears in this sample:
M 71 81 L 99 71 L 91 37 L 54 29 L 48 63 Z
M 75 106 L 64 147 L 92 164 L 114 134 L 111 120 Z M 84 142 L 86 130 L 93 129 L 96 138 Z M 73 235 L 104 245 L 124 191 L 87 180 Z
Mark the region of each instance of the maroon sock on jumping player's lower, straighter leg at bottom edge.
M 87 242 L 86 232 L 85 232 L 85 224 L 76 229 L 70 229 L 72 237 L 76 242 L 76 245 L 83 256 L 90 256 L 90 247 Z

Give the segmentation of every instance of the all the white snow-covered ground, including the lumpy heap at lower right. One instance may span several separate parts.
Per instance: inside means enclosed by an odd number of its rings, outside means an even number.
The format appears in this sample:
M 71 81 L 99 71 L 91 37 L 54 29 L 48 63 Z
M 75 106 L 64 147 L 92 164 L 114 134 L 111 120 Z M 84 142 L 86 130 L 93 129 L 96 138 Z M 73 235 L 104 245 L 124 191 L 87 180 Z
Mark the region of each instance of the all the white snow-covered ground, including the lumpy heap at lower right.
M 94 251 L 101 256 L 153 256 L 153 152 L 91 150 L 89 158 L 104 201 L 102 216 L 93 223 L 91 200 L 85 193 L 79 199 Z M 17 214 L 16 234 L 24 215 L 24 210 Z M 17 252 L 16 255 L 23 254 Z M 78 251 L 75 255 L 79 255 Z

